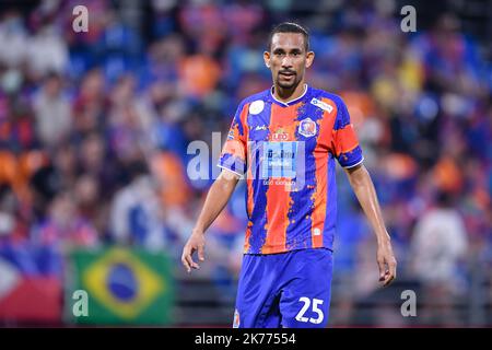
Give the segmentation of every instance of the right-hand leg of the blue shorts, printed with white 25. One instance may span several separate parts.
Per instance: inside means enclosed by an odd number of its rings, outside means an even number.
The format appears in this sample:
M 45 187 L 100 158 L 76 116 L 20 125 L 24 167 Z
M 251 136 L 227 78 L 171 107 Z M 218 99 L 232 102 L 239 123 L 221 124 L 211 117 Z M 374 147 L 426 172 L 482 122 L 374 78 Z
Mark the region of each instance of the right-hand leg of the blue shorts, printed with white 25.
M 292 280 L 281 293 L 282 326 L 323 328 L 329 316 L 332 256 L 328 249 L 306 249 L 294 262 Z

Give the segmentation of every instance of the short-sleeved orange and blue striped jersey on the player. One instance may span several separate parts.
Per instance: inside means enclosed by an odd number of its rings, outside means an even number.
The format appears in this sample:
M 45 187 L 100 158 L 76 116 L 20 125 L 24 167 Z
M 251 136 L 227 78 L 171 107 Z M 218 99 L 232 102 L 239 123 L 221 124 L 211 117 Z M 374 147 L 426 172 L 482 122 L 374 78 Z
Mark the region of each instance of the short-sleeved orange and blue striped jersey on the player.
M 218 165 L 246 177 L 245 254 L 332 249 L 335 159 L 363 161 L 339 96 L 306 85 L 289 103 L 267 90 L 239 104 Z

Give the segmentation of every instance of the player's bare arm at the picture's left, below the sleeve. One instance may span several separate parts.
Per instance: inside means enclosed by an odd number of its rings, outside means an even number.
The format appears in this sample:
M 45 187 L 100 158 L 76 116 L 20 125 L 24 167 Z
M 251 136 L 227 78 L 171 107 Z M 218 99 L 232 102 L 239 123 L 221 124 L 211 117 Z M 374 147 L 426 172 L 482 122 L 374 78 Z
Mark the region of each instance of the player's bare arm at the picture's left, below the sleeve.
M 237 174 L 224 170 L 210 187 L 203 208 L 198 217 L 197 224 L 183 248 L 181 262 L 188 272 L 191 271 L 191 268 L 200 268 L 192 259 L 195 252 L 198 252 L 198 259 L 200 261 L 204 260 L 204 233 L 224 209 L 236 188 L 239 176 Z

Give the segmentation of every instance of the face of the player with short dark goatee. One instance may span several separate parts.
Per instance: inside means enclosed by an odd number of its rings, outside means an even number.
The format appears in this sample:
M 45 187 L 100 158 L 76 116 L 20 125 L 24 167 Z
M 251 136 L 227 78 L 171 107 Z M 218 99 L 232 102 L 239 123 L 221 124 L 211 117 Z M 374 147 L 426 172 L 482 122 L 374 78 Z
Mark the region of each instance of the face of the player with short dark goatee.
M 276 85 L 293 89 L 304 79 L 304 72 L 313 63 L 314 52 L 306 52 L 301 33 L 276 33 L 270 51 L 263 54 Z

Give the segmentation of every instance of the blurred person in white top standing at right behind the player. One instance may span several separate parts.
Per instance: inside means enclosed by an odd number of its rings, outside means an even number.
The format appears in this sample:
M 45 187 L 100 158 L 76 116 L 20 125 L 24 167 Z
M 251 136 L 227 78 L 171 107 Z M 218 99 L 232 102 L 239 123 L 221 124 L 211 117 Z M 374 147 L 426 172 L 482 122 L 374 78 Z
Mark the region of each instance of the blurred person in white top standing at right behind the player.
M 449 194 L 440 192 L 435 207 L 417 222 L 410 246 L 412 273 L 424 287 L 425 299 L 435 301 L 435 308 L 427 306 L 421 316 L 434 324 L 454 323 L 462 319 L 453 312 L 453 299 L 466 291 L 464 276 L 468 252 L 465 222 L 453 206 Z

